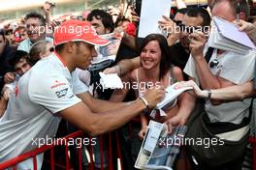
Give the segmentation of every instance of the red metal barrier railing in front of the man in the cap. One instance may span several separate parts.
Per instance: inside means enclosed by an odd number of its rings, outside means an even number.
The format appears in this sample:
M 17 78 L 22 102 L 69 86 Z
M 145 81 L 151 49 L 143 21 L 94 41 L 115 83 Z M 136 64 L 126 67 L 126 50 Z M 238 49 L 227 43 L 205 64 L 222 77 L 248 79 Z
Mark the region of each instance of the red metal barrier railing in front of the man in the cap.
M 6 168 L 11 168 L 13 167 L 13 170 L 16 170 L 16 165 L 28 158 L 33 158 L 33 168 L 34 170 L 37 170 L 37 157 L 38 155 L 45 153 L 46 151 L 50 152 L 50 160 L 49 160 L 49 166 L 51 170 L 55 169 L 55 160 L 54 160 L 54 147 L 55 146 L 60 146 L 63 145 L 63 143 L 61 142 L 63 139 L 65 139 L 66 141 L 68 141 L 68 139 L 71 138 L 76 138 L 76 137 L 84 137 L 84 134 L 81 130 L 71 133 L 63 138 L 61 138 L 60 140 L 56 140 L 56 142 L 54 142 L 52 145 L 44 145 L 40 148 L 36 148 L 30 152 L 27 152 L 25 154 L 22 154 L 20 156 L 16 156 L 15 158 L 12 158 L 10 160 L 7 160 L 3 163 L 0 163 L 0 169 L 6 169 Z M 109 135 L 109 153 L 112 154 L 112 136 L 111 134 Z M 116 138 L 118 146 L 117 146 L 117 156 L 120 158 L 121 160 L 121 155 L 120 155 L 120 143 L 118 141 L 118 138 Z M 91 141 L 91 140 L 90 140 Z M 101 143 L 101 157 L 103 157 L 103 147 L 102 147 L 102 143 Z M 69 146 L 67 145 L 67 143 L 65 142 L 64 144 L 65 146 L 65 159 L 66 159 L 66 170 L 70 170 L 72 169 L 71 167 L 71 163 L 70 163 L 70 156 L 69 156 Z M 78 148 L 78 155 L 79 155 L 79 169 L 82 169 L 82 157 L 81 157 L 81 147 Z M 93 166 L 93 149 L 92 146 L 89 146 L 89 158 L 90 158 L 90 164 L 89 164 L 89 169 L 93 170 L 94 166 Z M 109 155 L 108 157 L 109 160 L 109 170 L 112 170 L 112 155 Z M 103 158 L 101 158 L 101 169 L 103 169 Z M 122 169 L 122 167 L 121 167 Z

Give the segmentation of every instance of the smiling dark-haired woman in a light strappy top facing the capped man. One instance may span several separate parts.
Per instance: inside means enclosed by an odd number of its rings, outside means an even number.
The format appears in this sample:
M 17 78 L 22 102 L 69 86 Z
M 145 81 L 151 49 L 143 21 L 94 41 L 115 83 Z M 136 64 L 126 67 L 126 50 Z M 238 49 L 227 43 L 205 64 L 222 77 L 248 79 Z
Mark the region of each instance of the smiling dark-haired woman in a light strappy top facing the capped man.
M 172 56 L 169 54 L 168 43 L 162 35 L 148 35 L 144 38 L 140 51 L 141 67 L 127 73 L 123 78 L 125 84 L 127 84 L 127 82 L 132 84 L 132 86 L 126 87 L 132 87 L 137 97 L 143 97 L 144 93 L 149 89 L 160 88 L 161 86 L 166 88 L 175 83 L 176 80 L 181 81 L 183 79 L 181 70 L 174 67 L 171 63 Z M 121 90 L 115 90 L 111 100 L 120 101 L 124 99 L 130 90 L 126 87 Z M 179 110 L 181 100 L 182 96 L 180 96 L 179 99 L 175 99 L 173 104 L 164 110 L 167 113 L 166 117 L 156 114 L 156 116 L 151 119 L 163 123 L 175 117 Z M 142 129 L 139 133 L 141 138 L 144 137 L 147 122 L 148 118 L 141 114 Z

